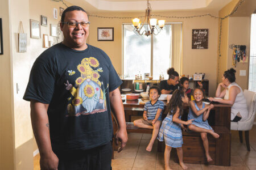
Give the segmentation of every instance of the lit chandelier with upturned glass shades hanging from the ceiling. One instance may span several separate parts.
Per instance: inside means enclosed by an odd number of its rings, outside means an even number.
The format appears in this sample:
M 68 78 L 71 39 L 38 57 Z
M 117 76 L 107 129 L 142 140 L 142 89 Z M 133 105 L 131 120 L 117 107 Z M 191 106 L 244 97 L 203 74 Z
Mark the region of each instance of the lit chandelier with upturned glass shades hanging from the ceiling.
M 145 18 L 144 18 L 142 25 L 141 25 L 140 19 L 138 19 L 138 18 L 133 19 L 133 25 L 134 25 L 136 31 L 139 33 L 139 35 L 150 36 L 150 35 L 152 35 L 152 33 L 154 33 L 154 35 L 158 35 L 158 33 L 164 27 L 165 20 L 158 20 L 156 18 L 151 18 L 151 14 L 150 14 L 151 6 L 148 1 L 149 0 L 147 0 L 146 14 L 145 14 Z M 156 27 L 157 22 L 158 22 L 158 26 L 160 29 Z M 143 28 L 144 24 L 147 25 L 147 30 L 144 30 L 143 32 L 141 32 L 141 29 Z

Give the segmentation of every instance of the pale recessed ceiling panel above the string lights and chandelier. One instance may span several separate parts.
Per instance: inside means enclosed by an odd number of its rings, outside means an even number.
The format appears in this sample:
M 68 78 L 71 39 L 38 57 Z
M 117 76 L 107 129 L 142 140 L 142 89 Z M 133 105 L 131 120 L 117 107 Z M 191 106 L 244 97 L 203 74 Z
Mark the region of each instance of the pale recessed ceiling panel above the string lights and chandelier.
M 142 12 L 146 0 L 68 0 L 86 6 L 88 12 Z M 219 11 L 232 0 L 150 0 L 152 11 L 209 10 Z

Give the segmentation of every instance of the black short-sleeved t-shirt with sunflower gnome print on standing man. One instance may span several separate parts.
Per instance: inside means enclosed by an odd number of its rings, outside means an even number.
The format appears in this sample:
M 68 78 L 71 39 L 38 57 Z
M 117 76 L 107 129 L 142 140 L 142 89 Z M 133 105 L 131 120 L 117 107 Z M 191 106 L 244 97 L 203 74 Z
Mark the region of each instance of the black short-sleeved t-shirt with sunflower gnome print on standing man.
M 88 150 L 112 140 L 109 92 L 121 84 L 101 49 L 60 43 L 36 59 L 23 99 L 49 104 L 53 151 Z

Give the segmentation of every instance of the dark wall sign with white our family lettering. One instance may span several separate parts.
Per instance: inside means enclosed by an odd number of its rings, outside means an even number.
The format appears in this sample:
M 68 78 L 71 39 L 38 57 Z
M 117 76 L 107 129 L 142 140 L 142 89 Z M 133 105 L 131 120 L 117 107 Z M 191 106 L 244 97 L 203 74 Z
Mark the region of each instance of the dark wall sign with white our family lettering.
M 192 29 L 192 49 L 208 49 L 208 29 Z

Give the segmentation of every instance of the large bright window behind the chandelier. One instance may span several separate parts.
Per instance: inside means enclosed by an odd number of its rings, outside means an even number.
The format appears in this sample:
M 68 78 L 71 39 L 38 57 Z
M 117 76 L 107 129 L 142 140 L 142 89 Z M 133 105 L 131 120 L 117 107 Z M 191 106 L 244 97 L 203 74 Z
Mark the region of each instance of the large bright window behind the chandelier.
M 143 30 L 147 25 L 144 25 Z M 142 30 L 142 31 L 143 31 Z M 168 78 L 167 69 L 171 67 L 172 25 L 164 25 L 158 35 L 139 35 L 133 24 L 123 24 L 123 75 L 150 73 L 153 79 L 163 74 Z

